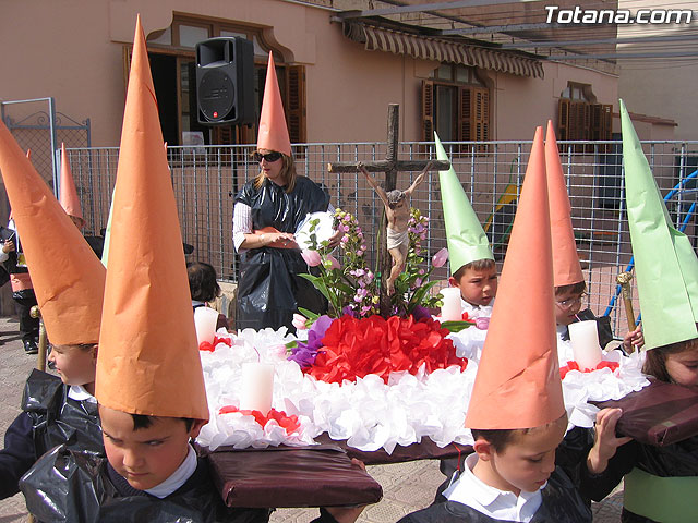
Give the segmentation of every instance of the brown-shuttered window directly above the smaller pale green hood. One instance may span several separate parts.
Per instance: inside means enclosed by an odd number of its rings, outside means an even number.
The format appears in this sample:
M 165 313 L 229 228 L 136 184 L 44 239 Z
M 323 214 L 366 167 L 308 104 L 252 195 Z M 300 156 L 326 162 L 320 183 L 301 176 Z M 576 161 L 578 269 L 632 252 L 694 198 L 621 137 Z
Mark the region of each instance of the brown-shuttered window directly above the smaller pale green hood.
M 433 76 L 422 81 L 422 141 L 433 141 L 434 131 L 443 142 L 489 141 L 490 90 L 474 70 L 442 64 Z

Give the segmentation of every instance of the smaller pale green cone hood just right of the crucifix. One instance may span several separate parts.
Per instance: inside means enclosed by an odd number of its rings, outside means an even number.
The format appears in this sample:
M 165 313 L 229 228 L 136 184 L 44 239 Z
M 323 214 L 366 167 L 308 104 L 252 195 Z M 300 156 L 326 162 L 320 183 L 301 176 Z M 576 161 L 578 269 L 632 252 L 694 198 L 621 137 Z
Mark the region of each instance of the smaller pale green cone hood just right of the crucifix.
M 448 160 L 444 146 L 434 133 L 436 159 Z M 490 240 L 482 230 L 480 220 L 462 190 L 453 163 L 447 171 L 438 172 L 441 203 L 444 208 L 448 260 L 452 275 L 464 265 L 478 259 L 494 259 Z

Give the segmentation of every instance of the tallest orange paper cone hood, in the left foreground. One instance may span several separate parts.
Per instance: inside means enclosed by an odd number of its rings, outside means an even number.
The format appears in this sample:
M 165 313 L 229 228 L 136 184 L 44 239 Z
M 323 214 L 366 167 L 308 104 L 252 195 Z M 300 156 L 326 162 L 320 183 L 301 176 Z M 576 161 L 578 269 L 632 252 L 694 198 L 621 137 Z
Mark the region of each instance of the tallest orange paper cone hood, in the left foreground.
M 132 414 L 208 419 L 177 204 L 136 21 L 127 93 L 97 400 Z

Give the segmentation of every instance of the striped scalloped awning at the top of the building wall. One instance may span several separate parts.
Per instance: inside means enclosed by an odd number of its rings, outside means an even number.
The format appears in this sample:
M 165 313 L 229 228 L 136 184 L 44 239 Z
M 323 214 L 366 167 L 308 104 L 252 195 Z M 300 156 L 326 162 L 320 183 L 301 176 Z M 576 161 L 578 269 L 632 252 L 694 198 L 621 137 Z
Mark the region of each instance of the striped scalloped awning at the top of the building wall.
M 543 64 L 540 60 L 506 51 L 350 22 L 345 22 L 344 32 L 346 37 L 365 44 L 369 51 L 461 63 L 518 76 L 543 77 Z

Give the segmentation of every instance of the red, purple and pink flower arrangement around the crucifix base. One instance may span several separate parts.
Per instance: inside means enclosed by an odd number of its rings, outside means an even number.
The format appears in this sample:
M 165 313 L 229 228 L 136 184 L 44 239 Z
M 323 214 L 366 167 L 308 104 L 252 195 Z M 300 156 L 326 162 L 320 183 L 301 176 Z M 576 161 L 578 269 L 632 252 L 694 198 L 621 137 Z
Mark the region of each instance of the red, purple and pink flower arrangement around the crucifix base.
M 365 259 L 366 243 L 357 219 L 336 209 L 334 228 L 340 231 L 339 247 L 344 266 L 332 255 L 327 242 L 317 242 L 314 233 L 320 220 L 311 221 L 310 250 L 303 259 L 316 267 L 316 275 L 302 275 L 325 295 L 329 314 L 317 316 L 301 309 L 294 326 L 308 330 L 308 339 L 289 343 L 289 360 L 305 374 L 327 382 L 356 381 L 368 375 L 377 375 L 386 384 L 390 373 L 431 373 L 437 368 L 468 361 L 457 357 L 449 330 L 432 319 L 426 307 L 438 305 L 440 295 L 429 291 L 436 282 L 429 277 L 436 267 L 443 267 L 448 252 L 443 248 L 424 268 L 422 243 L 426 239 L 429 218 L 418 209 L 410 209 L 408 221 L 409 248 L 404 272 L 395 281 L 390 296 L 392 315 L 378 315 L 380 278 Z M 464 323 L 465 324 L 465 323 Z

